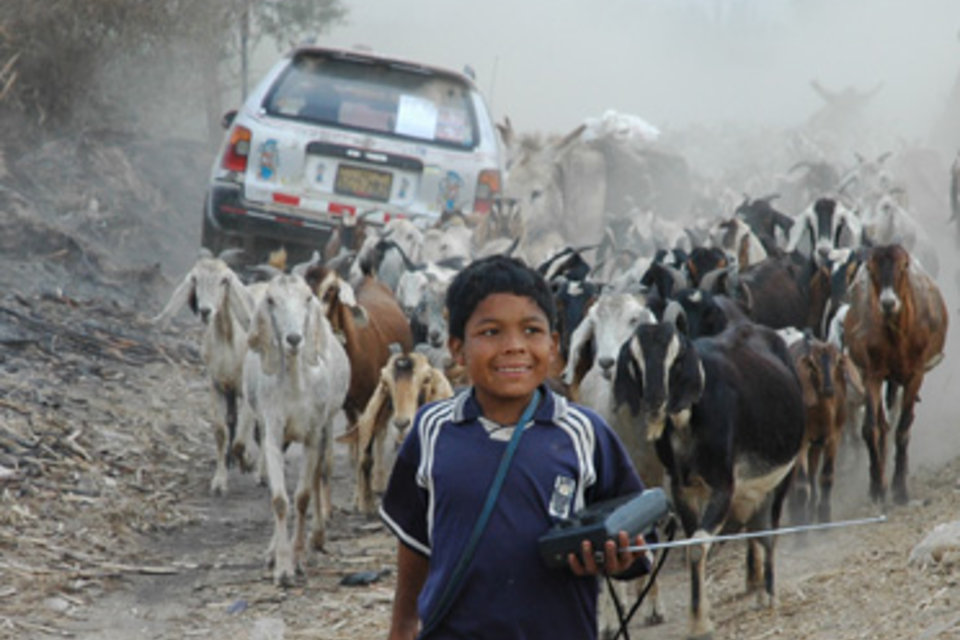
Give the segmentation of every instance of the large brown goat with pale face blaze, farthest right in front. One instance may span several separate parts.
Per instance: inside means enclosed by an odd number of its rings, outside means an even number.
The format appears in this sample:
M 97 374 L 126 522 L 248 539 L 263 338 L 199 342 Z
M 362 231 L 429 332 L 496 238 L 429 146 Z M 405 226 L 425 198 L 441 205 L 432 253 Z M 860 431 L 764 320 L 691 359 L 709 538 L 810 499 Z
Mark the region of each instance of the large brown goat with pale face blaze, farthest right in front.
M 881 386 L 903 387 L 896 425 L 893 494 L 908 500 L 907 445 L 924 374 L 943 358 L 947 309 L 937 285 L 900 245 L 874 247 L 850 290 L 844 336 L 867 394 L 862 435 L 870 455 L 870 496 L 886 497 L 887 424 Z M 890 390 L 888 390 L 890 393 Z

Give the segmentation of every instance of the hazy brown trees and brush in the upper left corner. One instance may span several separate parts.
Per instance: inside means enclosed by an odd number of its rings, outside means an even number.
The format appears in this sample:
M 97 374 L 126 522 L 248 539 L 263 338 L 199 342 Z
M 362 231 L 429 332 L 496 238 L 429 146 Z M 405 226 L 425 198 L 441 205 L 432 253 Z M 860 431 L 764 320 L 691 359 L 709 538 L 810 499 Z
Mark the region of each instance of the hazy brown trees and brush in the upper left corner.
M 0 115 L 38 130 L 135 130 L 203 113 L 216 139 L 220 96 L 238 84 L 241 18 L 249 46 L 286 46 L 345 16 L 340 0 L 3 0 Z

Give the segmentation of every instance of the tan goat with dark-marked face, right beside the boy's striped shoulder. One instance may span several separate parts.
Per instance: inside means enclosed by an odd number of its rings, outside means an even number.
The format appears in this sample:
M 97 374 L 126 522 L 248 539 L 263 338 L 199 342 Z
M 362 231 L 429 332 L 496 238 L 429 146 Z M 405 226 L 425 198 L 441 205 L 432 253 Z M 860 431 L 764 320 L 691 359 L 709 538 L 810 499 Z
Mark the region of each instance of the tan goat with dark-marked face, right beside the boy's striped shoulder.
M 390 357 L 380 371 L 380 383 L 357 420 L 357 428 L 342 439 L 356 442 L 358 511 L 373 513 L 373 491 L 386 488 L 383 449 L 390 423 L 394 427 L 393 441 L 399 447 L 417 409 L 452 395 L 453 388 L 446 376 L 432 367 L 422 353 L 395 353 Z

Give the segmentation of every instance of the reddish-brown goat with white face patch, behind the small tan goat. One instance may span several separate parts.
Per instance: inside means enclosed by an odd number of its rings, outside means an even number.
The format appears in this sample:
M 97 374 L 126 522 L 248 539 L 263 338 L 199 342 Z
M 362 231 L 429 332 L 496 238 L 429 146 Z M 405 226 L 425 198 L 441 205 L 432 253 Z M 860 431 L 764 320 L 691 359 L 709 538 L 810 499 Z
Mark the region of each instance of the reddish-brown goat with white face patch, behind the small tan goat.
M 372 276 L 365 276 L 356 291 L 328 267 L 314 265 L 304 278 L 320 298 L 350 360 L 350 390 L 343 405 L 349 430 L 379 383 L 390 345 L 397 343 L 403 351 L 413 348 L 410 323 L 393 293 Z

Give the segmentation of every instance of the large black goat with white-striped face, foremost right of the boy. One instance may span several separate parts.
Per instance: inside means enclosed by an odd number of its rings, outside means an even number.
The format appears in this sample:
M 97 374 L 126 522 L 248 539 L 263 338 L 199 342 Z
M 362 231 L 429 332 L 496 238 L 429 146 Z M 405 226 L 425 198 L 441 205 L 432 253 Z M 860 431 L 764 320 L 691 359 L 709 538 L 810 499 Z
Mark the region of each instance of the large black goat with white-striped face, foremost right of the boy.
M 614 398 L 655 441 L 688 537 L 779 525 L 805 415 L 792 359 L 774 331 L 748 322 L 691 341 L 671 322 L 640 326 L 621 347 Z M 768 604 L 774 540 L 753 538 L 747 553 L 748 589 Z M 689 548 L 691 637 L 713 628 L 704 593 L 709 547 Z

